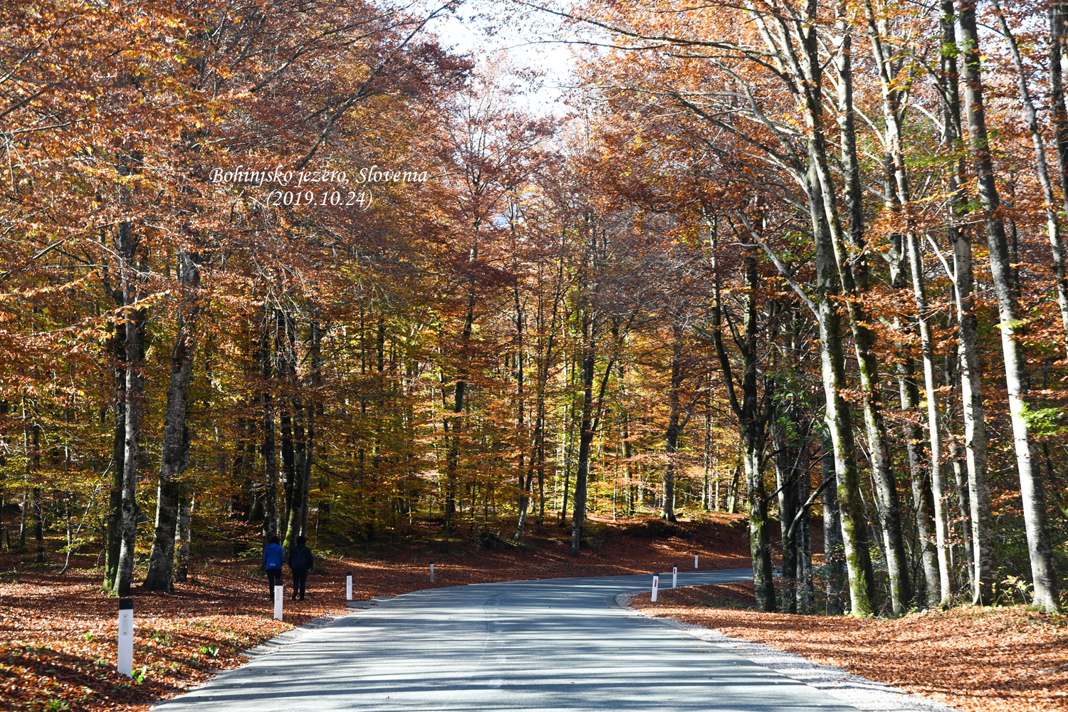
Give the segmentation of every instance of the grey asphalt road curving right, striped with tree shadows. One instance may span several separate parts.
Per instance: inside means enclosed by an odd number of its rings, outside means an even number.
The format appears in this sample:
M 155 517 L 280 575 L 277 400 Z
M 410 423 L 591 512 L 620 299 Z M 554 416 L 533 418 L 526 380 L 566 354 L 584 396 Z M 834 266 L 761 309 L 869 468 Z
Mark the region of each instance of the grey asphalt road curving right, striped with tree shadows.
M 680 572 L 679 585 L 749 577 L 749 569 Z M 615 604 L 616 594 L 650 581 L 552 579 L 406 594 L 156 709 L 855 711 Z M 661 595 L 664 584 L 670 572 Z

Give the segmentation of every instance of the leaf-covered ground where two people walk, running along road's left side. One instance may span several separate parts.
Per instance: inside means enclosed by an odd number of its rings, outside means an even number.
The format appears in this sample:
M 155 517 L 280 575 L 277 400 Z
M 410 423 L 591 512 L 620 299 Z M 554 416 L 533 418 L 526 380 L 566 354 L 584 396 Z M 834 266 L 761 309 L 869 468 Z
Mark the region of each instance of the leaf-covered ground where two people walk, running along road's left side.
M 531 532 L 523 547 L 503 540 L 507 529 L 481 539 L 476 524 L 465 522 L 457 529 L 466 538 L 454 541 L 449 554 L 433 540 L 440 532 L 433 523 L 403 540 L 363 545 L 359 552 L 320 548 L 304 601 L 288 600 L 286 582 L 283 621 L 272 617 L 258 551 L 249 547 L 255 537 L 245 533 L 244 543 L 235 539 L 225 557 L 194 557 L 189 582 L 177 584 L 174 594 L 135 586 L 134 680 L 115 673 L 119 606 L 99 590 L 98 557 L 75 556 L 60 574 L 62 540 L 46 539 L 42 566 L 33 563 L 31 539 L 21 551 L 0 553 L 0 710 L 146 710 L 240 665 L 242 651 L 265 639 L 320 616 L 348 613 L 347 571 L 352 572 L 354 599 L 366 600 L 468 583 L 648 573 L 672 566 L 688 570 L 695 553 L 702 569 L 750 566 L 740 515 L 706 515 L 677 526 L 650 518 L 593 518 L 591 548 L 578 558 L 569 555 L 570 529 L 555 523 Z M 248 557 L 235 558 L 233 552 L 242 548 Z

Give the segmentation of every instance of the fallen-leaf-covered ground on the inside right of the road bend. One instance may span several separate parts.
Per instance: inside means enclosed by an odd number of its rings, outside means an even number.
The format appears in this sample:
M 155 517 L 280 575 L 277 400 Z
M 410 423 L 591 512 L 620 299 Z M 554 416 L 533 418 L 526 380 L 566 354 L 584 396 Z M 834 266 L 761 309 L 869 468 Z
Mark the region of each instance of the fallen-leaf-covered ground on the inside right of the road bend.
M 753 584 L 630 599 L 644 615 L 703 626 L 969 712 L 1068 710 L 1068 617 L 1023 605 L 963 606 L 898 619 L 754 611 Z

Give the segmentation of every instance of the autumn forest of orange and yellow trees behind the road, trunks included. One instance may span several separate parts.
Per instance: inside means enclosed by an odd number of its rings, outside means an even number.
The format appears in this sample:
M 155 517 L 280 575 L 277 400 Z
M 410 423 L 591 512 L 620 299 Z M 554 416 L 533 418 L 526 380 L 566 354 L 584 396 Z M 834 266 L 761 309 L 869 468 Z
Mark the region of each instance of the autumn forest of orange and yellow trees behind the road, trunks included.
M 0 5 L 6 545 L 729 510 L 767 611 L 1063 610 L 1068 5 L 490 4 Z

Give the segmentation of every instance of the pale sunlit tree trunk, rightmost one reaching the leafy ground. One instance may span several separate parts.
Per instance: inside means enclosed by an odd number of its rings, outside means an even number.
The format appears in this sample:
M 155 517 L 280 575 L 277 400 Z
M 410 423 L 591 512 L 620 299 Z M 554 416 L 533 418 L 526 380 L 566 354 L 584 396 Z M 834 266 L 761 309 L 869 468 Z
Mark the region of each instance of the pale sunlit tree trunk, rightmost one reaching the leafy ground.
M 990 274 L 993 278 L 998 312 L 1001 319 L 1002 351 L 1005 355 L 1005 381 L 1008 390 L 1009 416 L 1012 423 L 1012 441 L 1016 449 L 1017 470 L 1020 474 L 1020 494 L 1023 504 L 1024 528 L 1027 534 L 1027 553 L 1034 583 L 1034 604 L 1046 612 L 1061 610 L 1056 570 L 1053 566 L 1053 548 L 1046 511 L 1046 490 L 1041 469 L 1035 462 L 1032 438 L 1027 424 L 1028 374 L 1023 343 L 1025 320 L 1019 304 L 1016 287 L 1016 268 L 1009 256 L 1005 223 L 999 211 L 1000 199 L 990 158 L 989 137 L 983 98 L 983 79 L 979 65 L 979 36 L 976 28 L 974 0 L 960 3 L 959 23 L 963 66 L 964 106 L 968 114 L 969 147 L 975 164 L 978 197 L 983 206 L 990 251 Z

